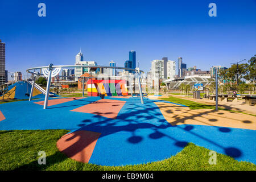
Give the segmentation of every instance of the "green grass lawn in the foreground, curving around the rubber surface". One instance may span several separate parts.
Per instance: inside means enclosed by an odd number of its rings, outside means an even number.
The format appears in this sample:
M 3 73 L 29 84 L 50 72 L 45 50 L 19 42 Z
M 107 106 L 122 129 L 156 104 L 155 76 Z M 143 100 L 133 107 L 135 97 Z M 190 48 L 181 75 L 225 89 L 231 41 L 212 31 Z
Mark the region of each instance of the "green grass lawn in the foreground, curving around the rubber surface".
M 0 131 L 0 170 L 256 170 L 253 163 L 238 162 L 217 153 L 210 165 L 209 150 L 189 143 L 181 152 L 159 162 L 129 166 L 98 166 L 67 158 L 56 147 L 67 130 Z M 38 152 L 46 152 L 46 165 L 38 164 Z

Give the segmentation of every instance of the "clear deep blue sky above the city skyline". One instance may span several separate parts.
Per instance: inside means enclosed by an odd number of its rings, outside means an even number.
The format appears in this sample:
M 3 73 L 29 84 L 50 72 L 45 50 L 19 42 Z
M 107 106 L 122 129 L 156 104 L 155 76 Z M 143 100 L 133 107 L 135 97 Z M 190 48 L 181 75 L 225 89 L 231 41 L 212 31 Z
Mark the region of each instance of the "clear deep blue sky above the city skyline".
M 38 4 L 46 3 L 46 17 Z M 208 5 L 217 5 L 217 17 Z M 140 68 L 183 57 L 187 67 L 209 70 L 256 54 L 256 1 L 0 1 L 0 39 L 10 72 L 70 65 L 81 47 L 85 60 L 123 67 L 129 51 Z

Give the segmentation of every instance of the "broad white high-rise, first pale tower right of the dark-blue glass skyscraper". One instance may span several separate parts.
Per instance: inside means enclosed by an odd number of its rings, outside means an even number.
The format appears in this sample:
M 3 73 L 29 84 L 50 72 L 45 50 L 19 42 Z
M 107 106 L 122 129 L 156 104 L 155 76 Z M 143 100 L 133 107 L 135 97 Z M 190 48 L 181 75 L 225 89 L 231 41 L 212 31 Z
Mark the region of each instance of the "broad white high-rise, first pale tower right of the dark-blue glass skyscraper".
M 153 80 L 164 78 L 164 60 L 151 61 L 151 76 Z

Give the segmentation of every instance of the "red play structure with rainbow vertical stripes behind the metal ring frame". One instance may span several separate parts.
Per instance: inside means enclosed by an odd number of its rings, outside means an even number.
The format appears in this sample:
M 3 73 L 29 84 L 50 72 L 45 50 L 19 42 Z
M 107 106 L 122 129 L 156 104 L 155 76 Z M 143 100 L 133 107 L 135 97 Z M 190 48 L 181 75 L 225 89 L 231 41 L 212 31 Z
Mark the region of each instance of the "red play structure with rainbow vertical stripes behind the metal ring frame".
M 86 82 L 88 96 L 127 96 L 126 80 L 92 80 Z

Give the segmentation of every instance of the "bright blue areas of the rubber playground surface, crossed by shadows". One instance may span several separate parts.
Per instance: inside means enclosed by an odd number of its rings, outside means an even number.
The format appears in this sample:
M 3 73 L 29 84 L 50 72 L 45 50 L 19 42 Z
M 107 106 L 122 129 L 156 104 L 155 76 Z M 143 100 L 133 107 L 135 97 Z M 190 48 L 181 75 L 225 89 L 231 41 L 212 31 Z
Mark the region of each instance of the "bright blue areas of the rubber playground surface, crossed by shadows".
M 0 130 L 67 129 L 71 132 L 88 130 L 101 133 L 89 163 L 106 166 L 170 158 L 183 150 L 188 142 L 239 161 L 256 163 L 255 130 L 201 125 L 172 126 L 154 104 L 155 100 L 144 98 L 142 105 L 139 97 L 105 98 L 126 101 L 116 119 L 71 111 L 100 100 L 100 97 L 65 102 L 49 106 L 47 110 L 33 103 L 40 100 L 1 104 L 0 110 L 6 119 L 0 122 Z

